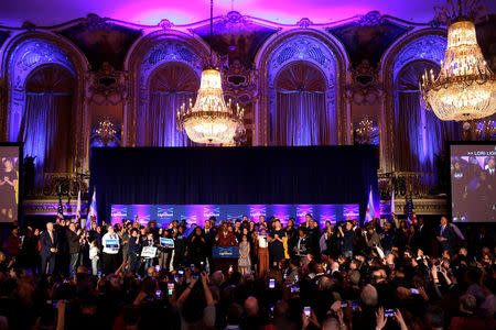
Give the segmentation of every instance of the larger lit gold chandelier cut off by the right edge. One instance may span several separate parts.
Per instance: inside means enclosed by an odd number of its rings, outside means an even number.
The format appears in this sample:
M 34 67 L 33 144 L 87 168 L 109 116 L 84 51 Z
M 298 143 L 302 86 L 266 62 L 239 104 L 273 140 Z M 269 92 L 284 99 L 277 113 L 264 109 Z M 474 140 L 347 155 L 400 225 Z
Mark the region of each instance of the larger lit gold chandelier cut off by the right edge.
M 441 72 L 438 77 L 432 69 L 425 72 L 419 88 L 423 107 L 441 120 L 468 121 L 496 112 L 496 77 L 477 44 L 475 24 L 462 15 L 461 1 L 457 9 L 457 16 L 448 29 Z

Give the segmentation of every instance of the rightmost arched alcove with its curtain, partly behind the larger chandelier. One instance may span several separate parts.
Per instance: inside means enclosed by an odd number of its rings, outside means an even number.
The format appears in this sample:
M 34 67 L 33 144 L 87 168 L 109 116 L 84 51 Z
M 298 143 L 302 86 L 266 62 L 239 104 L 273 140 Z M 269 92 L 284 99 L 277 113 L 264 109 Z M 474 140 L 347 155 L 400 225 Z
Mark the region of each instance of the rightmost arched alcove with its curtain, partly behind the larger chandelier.
M 446 141 L 461 139 L 461 125 L 441 121 L 421 107 L 419 81 L 422 74 L 440 70 L 445 38 L 436 34 L 420 35 L 405 43 L 389 59 L 386 86 L 392 89 L 387 108 L 390 120 L 390 148 L 396 172 L 422 173 L 425 187 L 438 186 L 438 156 L 445 154 Z

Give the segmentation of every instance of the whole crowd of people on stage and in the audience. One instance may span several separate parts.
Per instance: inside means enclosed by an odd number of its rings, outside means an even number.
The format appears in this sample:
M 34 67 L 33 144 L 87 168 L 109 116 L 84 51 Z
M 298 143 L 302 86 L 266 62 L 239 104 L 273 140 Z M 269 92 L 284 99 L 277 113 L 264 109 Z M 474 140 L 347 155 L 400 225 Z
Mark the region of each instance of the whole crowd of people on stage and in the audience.
M 14 226 L 0 329 L 496 329 L 494 249 L 445 217 Z

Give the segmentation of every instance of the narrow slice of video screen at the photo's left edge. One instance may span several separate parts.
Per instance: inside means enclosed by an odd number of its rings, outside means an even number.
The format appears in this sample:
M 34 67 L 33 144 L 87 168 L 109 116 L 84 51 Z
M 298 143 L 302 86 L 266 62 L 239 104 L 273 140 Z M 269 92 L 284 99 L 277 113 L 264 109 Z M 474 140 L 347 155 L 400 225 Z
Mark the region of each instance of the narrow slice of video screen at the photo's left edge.
M 0 145 L 0 222 L 18 220 L 20 147 Z

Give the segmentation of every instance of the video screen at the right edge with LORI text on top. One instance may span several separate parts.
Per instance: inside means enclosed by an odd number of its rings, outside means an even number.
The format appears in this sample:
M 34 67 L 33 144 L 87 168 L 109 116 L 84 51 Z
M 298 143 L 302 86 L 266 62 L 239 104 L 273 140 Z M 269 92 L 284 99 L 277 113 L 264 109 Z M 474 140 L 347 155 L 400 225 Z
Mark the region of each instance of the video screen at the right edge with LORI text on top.
M 450 154 L 453 221 L 496 221 L 496 144 L 453 144 Z

